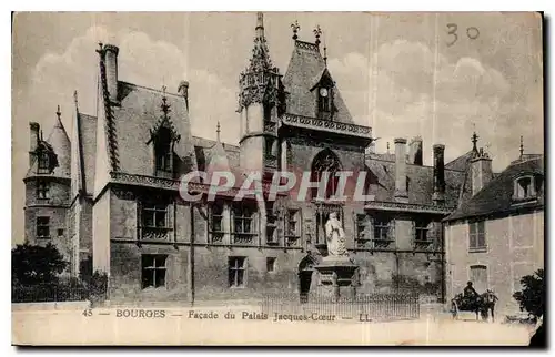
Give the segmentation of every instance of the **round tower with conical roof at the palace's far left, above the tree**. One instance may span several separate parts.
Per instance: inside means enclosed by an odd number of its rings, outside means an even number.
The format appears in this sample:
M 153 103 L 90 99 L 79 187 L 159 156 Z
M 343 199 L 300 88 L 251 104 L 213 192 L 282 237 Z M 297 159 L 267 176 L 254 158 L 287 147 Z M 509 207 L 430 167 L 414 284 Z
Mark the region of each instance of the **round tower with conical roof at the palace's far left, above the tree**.
M 67 232 L 67 211 L 71 190 L 71 143 L 58 119 L 47 140 L 38 123 L 30 123 L 29 171 L 26 184 L 26 242 L 54 244 L 67 261 L 72 244 Z

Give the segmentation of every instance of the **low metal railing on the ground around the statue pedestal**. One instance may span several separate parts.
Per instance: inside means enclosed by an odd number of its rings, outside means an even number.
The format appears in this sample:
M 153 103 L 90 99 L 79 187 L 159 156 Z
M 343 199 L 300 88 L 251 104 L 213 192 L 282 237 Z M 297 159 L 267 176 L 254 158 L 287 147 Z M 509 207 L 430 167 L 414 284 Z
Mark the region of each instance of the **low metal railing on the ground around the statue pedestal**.
M 337 319 L 395 320 L 420 318 L 418 294 L 366 294 L 353 297 L 276 294 L 265 296 L 262 313 L 335 315 Z

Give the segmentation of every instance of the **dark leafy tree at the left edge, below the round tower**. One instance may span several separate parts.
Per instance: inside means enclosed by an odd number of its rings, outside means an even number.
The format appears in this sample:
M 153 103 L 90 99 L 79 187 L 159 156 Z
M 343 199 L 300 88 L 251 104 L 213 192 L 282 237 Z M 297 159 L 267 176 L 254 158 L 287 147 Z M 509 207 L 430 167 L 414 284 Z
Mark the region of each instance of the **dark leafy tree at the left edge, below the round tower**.
M 46 246 L 18 244 L 11 251 L 11 274 L 13 285 L 51 284 L 65 269 L 68 262 L 58 248 L 48 243 Z

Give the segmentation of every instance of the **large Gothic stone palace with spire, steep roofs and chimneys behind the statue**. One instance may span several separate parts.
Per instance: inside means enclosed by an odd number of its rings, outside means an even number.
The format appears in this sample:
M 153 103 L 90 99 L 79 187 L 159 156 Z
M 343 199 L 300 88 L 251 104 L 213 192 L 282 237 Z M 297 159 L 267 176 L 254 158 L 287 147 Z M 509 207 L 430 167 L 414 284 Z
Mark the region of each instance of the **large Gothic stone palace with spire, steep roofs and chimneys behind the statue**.
M 444 163 L 445 146 L 435 144 L 433 166 L 423 164 L 418 137 L 396 139 L 394 154 L 369 151 L 372 130 L 353 123 L 320 29 L 314 42 L 300 40 L 297 29 L 282 74 L 258 14 L 250 64 L 239 74 L 234 145 L 192 136 L 188 82 L 175 93 L 123 82 L 119 62 L 133 59 L 101 44 L 98 112 L 80 112 L 75 93 L 71 140 L 61 121 L 46 141 L 31 123 L 27 239 L 57 242 L 73 274 L 92 257 L 94 269 L 109 274 L 112 300 L 248 299 L 307 294 L 313 266 L 326 254 L 324 223 L 336 212 L 360 266 L 360 293 L 441 297 L 442 220 L 472 195 L 472 151 Z M 233 201 L 232 190 L 209 201 L 202 180 L 186 190 L 203 200 L 182 200 L 180 177 L 196 170 L 258 172 L 264 190 L 275 171 L 312 172 L 315 180 L 365 172 L 372 200 L 316 200 L 311 191 L 302 201 Z M 330 181 L 325 198 L 337 185 Z

